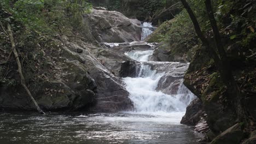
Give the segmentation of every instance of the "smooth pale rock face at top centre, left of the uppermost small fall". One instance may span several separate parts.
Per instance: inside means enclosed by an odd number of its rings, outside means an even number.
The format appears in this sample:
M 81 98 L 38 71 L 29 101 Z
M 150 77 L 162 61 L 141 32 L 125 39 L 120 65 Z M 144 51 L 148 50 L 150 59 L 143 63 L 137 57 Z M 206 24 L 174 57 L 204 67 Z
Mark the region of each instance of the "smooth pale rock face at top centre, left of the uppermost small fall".
M 98 42 L 124 43 L 141 40 L 141 28 L 135 20 L 130 20 L 117 11 L 92 9 L 84 15 L 89 21 L 92 34 Z

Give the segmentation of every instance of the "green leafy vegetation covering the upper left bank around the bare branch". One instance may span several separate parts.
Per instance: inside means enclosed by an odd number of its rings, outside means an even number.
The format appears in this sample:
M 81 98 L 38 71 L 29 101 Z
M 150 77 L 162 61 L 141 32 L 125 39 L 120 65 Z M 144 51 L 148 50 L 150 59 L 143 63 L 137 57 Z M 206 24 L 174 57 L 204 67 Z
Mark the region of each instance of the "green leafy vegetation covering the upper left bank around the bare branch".
M 15 59 L 8 57 L 11 46 L 6 31 L 7 24 L 10 23 L 16 47 L 21 52 L 27 81 L 40 79 L 39 75 L 42 75 L 42 69 L 48 63 L 44 50 L 61 45 L 54 40 L 60 35 L 77 37 L 80 34 L 85 35 L 85 41 L 92 41 L 82 17 L 84 13 L 90 13 L 92 7 L 87 1 L 1 0 L 0 7 L 1 62 L 15 62 Z M 40 50 L 35 47 L 40 47 Z M 40 61 L 45 62 L 37 65 Z M 17 84 L 15 79 L 8 78 L 8 67 L 0 67 L 0 72 L 1 86 Z

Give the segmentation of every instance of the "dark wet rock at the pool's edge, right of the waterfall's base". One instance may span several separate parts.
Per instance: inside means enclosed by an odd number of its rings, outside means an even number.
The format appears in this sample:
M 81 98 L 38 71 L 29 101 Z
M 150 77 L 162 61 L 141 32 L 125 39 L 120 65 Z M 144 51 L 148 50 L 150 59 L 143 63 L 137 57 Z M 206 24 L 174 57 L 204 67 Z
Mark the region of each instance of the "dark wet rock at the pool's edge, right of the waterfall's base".
M 188 105 L 185 116 L 182 117 L 181 124 L 196 125 L 201 120 L 202 115 L 202 102 L 200 99 L 196 98 Z M 201 122 L 200 124 L 197 124 L 196 131 L 201 131 L 204 124 L 206 124 L 206 122 Z

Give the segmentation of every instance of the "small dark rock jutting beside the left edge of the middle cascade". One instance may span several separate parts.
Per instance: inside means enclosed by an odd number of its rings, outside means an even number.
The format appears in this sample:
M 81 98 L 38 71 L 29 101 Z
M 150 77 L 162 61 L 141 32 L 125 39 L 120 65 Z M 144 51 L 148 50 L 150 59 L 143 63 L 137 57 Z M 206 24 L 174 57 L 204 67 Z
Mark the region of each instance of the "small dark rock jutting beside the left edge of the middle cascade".
M 136 62 L 127 61 L 122 63 L 120 76 L 121 77 L 136 77 L 138 75 L 139 67 Z

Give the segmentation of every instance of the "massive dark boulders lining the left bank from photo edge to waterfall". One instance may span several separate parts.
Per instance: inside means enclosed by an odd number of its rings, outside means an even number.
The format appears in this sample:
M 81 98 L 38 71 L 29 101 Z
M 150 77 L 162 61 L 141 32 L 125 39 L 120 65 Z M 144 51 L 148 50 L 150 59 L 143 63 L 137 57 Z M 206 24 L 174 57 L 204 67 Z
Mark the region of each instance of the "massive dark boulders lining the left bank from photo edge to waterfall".
M 45 53 L 44 57 L 50 60 L 39 63 L 44 64 L 44 73 L 28 85 L 43 110 L 86 108 L 98 112 L 117 112 L 132 109 L 129 92 L 123 86 L 121 78 L 115 76 L 101 59 L 96 58 L 96 55 L 102 55 L 98 50 L 103 48 L 83 41 L 68 42 L 66 37 L 61 39 L 62 45 L 51 49 L 55 52 Z M 118 60 L 120 67 L 123 60 L 128 60 L 125 55 L 118 57 L 112 52 L 103 52 L 106 55 L 101 58 L 106 61 Z M 119 67 L 118 64 L 115 65 Z M 15 71 L 12 73 L 14 74 L 11 75 L 18 76 Z M 0 108 L 33 110 L 34 106 L 20 85 L 5 87 L 0 83 Z

